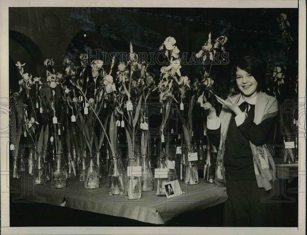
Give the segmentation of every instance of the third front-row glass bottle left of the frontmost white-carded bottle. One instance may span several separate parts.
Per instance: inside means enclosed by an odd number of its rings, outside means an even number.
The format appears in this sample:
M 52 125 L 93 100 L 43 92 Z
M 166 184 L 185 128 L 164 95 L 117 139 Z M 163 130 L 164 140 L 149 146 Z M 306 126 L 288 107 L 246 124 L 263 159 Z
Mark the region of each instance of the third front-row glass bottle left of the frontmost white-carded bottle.
M 66 187 L 66 166 L 61 154 L 56 154 L 56 160 L 52 167 L 51 187 L 60 189 Z

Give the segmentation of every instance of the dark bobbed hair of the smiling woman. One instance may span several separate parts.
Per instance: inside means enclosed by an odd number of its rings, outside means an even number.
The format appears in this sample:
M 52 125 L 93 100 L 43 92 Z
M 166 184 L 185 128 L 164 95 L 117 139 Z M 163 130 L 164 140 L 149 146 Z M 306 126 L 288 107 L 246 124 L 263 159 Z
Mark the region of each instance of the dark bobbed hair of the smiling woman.
M 242 69 L 251 74 L 258 83 L 257 91 L 266 91 L 266 65 L 260 57 L 245 56 L 237 60 L 231 69 L 231 82 L 235 90 L 238 90 L 236 84 L 236 71 Z

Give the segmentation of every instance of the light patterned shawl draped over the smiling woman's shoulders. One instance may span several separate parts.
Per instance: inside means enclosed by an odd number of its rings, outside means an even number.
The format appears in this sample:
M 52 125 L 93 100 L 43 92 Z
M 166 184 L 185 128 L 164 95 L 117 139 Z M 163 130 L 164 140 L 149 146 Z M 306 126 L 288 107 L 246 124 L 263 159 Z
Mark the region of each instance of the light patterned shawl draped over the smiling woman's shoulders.
M 232 96 L 235 102 L 239 101 L 241 94 Z M 229 101 L 229 100 L 228 100 Z M 264 92 L 259 92 L 257 95 L 257 101 L 255 104 L 255 118 L 254 123 L 257 125 L 267 118 L 271 118 L 277 115 L 277 100 L 273 96 L 268 96 Z M 216 175 L 215 183 L 219 187 L 226 186 L 225 180 L 225 168 L 223 166 L 223 157 L 225 153 L 225 139 L 227 136 L 227 130 L 229 122 L 232 116 L 232 111 L 225 106 L 222 107 L 220 113 L 221 121 L 221 139 L 220 147 L 216 159 Z M 251 143 L 251 150 L 253 153 L 255 174 L 258 187 L 264 187 L 265 190 L 272 188 L 272 182 L 275 181 L 275 164 L 274 160 L 266 147 L 266 144 L 256 146 Z

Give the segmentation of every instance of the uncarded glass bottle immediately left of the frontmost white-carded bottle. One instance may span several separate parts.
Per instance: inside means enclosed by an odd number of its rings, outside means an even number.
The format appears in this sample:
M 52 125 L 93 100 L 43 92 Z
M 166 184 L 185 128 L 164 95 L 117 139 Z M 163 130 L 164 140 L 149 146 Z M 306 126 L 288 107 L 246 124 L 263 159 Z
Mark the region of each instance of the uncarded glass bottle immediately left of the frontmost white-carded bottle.
M 108 194 L 121 195 L 124 193 L 123 165 L 120 156 L 112 156 L 108 174 Z

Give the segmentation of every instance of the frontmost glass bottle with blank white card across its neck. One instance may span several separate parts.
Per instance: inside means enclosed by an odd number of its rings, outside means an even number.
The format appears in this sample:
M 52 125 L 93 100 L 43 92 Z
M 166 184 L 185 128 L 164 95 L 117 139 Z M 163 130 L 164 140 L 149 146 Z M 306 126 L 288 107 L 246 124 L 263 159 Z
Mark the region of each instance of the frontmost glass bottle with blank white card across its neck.
M 139 174 L 133 174 L 133 167 L 137 166 L 137 163 L 134 159 L 129 159 L 128 161 L 127 171 L 124 178 L 124 197 L 128 200 L 140 199 L 142 197 L 141 176 Z

